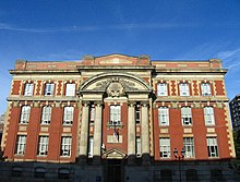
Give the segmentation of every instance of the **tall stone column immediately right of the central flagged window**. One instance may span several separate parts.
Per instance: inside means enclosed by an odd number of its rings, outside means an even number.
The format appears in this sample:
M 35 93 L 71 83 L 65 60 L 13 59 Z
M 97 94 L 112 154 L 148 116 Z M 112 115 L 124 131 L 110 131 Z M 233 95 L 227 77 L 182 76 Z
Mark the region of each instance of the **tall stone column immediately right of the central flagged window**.
M 129 104 L 128 110 L 128 163 L 135 163 L 135 106 Z

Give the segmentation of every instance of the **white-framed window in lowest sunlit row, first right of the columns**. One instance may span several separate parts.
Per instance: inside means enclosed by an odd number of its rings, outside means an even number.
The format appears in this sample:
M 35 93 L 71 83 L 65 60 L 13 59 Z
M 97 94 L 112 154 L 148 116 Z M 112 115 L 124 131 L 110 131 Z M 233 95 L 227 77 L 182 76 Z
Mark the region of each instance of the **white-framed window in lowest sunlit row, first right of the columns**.
M 170 158 L 171 149 L 170 149 L 170 138 L 169 137 L 159 137 L 159 155 L 160 158 Z

